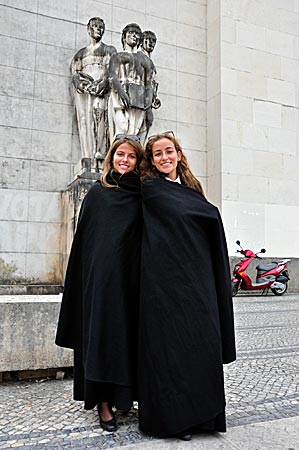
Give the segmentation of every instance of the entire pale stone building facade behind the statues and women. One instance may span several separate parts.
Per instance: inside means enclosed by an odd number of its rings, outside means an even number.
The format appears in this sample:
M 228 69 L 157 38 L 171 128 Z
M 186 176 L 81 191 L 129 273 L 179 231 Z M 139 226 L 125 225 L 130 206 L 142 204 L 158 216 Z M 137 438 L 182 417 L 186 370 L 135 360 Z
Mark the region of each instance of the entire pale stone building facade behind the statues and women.
M 81 155 L 70 62 L 93 16 L 119 51 L 130 22 L 156 33 L 162 106 L 150 134 L 172 130 L 181 141 L 221 210 L 229 253 L 240 239 L 299 257 L 297 1 L 4 0 L 2 283 L 62 283 L 62 197 Z

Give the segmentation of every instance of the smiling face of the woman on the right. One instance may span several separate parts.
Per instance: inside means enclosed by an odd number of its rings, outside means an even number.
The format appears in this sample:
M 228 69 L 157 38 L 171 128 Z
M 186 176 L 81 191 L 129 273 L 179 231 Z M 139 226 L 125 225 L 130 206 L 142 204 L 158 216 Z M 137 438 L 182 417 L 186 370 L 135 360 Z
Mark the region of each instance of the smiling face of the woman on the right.
M 175 180 L 182 153 L 176 151 L 174 143 L 166 137 L 156 141 L 152 146 L 152 155 L 152 164 L 156 169 L 171 180 Z

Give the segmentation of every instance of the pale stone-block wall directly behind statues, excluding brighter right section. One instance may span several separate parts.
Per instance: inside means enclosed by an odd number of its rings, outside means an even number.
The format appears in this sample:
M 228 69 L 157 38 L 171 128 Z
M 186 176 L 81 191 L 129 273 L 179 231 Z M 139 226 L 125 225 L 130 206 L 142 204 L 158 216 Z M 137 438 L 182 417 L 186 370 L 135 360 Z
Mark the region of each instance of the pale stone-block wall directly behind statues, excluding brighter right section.
M 60 193 L 80 159 L 69 65 L 95 15 L 118 50 L 129 22 L 157 34 L 152 132 L 173 130 L 206 184 L 206 0 L 2 1 L 0 271 L 10 283 L 62 281 Z

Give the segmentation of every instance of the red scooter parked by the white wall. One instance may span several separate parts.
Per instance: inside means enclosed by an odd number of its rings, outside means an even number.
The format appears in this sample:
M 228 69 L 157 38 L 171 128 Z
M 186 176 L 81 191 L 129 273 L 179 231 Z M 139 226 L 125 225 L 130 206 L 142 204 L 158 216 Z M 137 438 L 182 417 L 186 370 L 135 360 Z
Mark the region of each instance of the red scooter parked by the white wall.
M 283 295 L 288 289 L 288 281 L 290 279 L 288 273 L 287 262 L 290 259 L 282 259 L 279 261 L 272 261 L 270 264 L 259 264 L 256 266 L 256 283 L 253 283 L 246 273 L 246 269 L 249 264 L 255 259 L 259 258 L 259 253 L 265 253 L 264 248 L 260 252 L 253 253 L 252 250 L 244 250 L 240 244 L 240 241 L 236 241 L 241 250 L 237 252 L 241 253 L 244 258 L 235 264 L 232 277 L 232 293 L 233 297 L 237 295 L 238 291 L 257 291 L 262 290 L 268 293 L 269 288 L 275 295 Z

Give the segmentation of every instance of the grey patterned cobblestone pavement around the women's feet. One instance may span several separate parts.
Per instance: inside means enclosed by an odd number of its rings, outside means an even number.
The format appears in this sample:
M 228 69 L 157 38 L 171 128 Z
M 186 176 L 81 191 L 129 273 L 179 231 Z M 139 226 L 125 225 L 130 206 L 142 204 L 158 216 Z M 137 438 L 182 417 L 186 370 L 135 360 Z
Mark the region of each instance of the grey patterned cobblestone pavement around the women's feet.
M 234 306 L 237 361 L 225 366 L 228 428 L 299 419 L 299 295 L 238 296 Z M 118 432 L 103 432 L 96 411 L 72 400 L 72 380 L 5 382 L 0 394 L 0 449 L 110 449 L 151 441 L 138 431 L 137 405 L 127 416 L 117 413 Z

